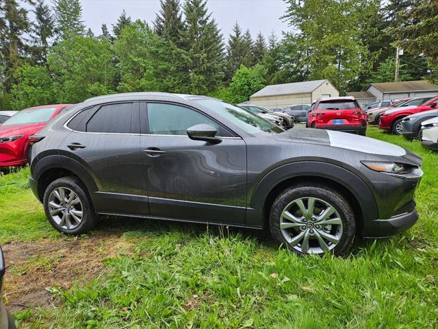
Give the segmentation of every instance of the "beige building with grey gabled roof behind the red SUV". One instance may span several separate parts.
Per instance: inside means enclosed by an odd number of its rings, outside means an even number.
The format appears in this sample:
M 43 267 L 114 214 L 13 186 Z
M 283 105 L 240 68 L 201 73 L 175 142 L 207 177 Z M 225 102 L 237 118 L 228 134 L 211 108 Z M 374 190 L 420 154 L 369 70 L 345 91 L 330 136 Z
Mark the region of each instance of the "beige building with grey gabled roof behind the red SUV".
M 311 104 L 324 97 L 339 97 L 339 91 L 329 80 L 314 80 L 266 86 L 250 97 L 250 103 L 266 108 L 285 108 Z

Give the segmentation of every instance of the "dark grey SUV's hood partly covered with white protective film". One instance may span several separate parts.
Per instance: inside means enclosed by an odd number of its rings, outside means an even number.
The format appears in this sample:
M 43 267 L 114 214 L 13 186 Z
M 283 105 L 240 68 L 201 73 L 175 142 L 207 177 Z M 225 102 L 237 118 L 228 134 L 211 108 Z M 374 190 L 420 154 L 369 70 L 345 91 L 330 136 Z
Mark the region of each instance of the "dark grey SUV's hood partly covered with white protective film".
M 312 128 L 298 128 L 287 130 L 281 134 L 272 135 L 279 141 L 296 141 L 298 143 L 309 143 L 318 145 L 328 145 L 349 149 L 366 154 L 377 154 L 383 156 L 406 156 L 407 151 L 400 146 L 378 141 L 374 138 L 347 134 L 345 132 L 335 132 L 333 130 L 322 130 Z

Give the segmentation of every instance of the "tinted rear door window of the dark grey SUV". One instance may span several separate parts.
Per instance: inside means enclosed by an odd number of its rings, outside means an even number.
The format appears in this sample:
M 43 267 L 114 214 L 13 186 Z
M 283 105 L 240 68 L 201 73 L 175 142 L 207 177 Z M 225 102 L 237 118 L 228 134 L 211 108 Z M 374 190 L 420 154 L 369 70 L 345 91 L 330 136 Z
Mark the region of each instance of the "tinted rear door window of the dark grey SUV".
M 133 103 L 103 105 L 86 123 L 86 132 L 112 134 L 140 133 L 140 123 L 133 114 Z

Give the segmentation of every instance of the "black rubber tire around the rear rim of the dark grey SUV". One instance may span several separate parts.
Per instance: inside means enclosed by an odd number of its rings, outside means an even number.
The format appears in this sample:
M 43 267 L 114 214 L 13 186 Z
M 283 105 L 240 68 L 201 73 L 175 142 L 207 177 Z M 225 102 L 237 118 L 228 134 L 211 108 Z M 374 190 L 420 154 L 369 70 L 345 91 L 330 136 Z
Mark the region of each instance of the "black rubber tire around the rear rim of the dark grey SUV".
M 76 228 L 64 228 L 58 225 L 50 214 L 49 210 L 49 197 L 51 193 L 56 188 L 68 188 L 70 191 L 73 191 L 81 202 L 81 211 L 83 213 L 81 222 L 79 226 Z M 47 186 L 46 191 L 44 191 L 43 198 L 44 212 L 46 213 L 46 217 L 56 230 L 69 235 L 78 235 L 86 233 L 94 227 L 96 222 L 96 213 L 94 212 L 94 208 L 92 206 L 92 202 L 90 199 L 90 195 L 88 195 L 88 191 L 86 186 L 83 185 L 81 180 L 75 176 L 62 177 L 54 180 Z

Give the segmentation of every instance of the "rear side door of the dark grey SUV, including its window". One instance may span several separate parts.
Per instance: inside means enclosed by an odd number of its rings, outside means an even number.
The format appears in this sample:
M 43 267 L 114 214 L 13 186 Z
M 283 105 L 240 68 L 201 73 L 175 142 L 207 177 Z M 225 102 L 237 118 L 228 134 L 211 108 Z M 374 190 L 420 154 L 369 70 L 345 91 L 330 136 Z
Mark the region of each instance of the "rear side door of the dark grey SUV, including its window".
M 92 195 L 98 212 L 147 215 L 147 191 L 139 180 L 139 103 L 106 103 L 79 112 L 67 123 L 71 132 L 62 154 L 80 162 L 99 191 Z

